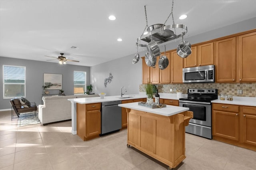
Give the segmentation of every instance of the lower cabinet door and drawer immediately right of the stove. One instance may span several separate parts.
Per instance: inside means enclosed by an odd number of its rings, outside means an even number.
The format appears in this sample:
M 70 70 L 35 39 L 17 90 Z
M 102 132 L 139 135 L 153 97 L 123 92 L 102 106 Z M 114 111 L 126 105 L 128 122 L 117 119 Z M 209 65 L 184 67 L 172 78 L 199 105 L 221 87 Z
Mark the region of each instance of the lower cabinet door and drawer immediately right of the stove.
M 238 141 L 238 106 L 213 104 L 212 109 L 212 135 Z

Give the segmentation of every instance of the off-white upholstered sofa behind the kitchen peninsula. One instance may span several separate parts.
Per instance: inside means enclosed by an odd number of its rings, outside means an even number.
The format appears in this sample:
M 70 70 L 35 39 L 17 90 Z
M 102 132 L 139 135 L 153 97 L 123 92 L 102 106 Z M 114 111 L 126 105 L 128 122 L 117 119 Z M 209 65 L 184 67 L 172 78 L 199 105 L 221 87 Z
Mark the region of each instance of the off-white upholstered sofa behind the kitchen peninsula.
M 71 102 L 68 99 L 98 97 L 99 95 L 44 96 L 38 106 L 38 118 L 43 125 L 71 119 Z

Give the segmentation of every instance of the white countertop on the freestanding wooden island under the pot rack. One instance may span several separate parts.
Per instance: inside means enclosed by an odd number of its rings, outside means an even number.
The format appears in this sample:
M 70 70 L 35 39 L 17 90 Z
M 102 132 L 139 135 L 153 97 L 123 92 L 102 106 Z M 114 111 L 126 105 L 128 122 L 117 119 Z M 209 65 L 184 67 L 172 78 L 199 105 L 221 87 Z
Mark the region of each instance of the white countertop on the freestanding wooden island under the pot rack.
M 154 114 L 163 115 L 163 116 L 172 116 L 172 115 L 176 115 L 178 113 L 182 113 L 184 111 L 189 110 L 188 107 L 178 107 L 178 106 L 170 106 L 170 105 L 167 105 L 166 107 L 163 107 L 163 108 L 150 109 L 148 107 L 139 106 L 138 102 L 124 103 L 124 104 L 119 104 L 118 106 L 125 107 L 128 109 L 134 109 L 138 111 L 144 111 L 148 113 L 154 113 Z

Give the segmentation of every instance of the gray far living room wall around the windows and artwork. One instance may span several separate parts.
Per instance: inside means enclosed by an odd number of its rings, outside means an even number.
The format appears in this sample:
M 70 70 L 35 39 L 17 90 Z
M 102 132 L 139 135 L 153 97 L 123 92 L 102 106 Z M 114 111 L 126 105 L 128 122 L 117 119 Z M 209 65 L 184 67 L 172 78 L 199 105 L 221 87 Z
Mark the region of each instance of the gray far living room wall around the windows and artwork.
M 36 102 L 37 105 L 41 104 L 44 73 L 62 74 L 62 89 L 66 95 L 74 95 L 74 71 L 86 71 L 86 83 L 87 85 L 90 84 L 90 67 L 70 64 L 60 66 L 58 63 L 0 57 L 0 110 L 10 109 L 10 99 L 3 99 L 2 65 L 17 65 L 26 67 L 26 99 L 31 102 Z M 58 90 L 50 90 L 50 94 L 51 93 L 57 94 Z

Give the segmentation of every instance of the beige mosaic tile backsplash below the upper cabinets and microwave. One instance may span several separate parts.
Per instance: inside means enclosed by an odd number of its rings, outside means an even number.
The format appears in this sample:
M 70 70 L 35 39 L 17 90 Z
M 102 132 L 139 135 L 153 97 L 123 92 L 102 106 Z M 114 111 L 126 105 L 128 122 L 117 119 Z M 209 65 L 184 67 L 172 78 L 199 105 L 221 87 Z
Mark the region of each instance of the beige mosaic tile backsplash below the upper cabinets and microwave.
M 224 93 L 226 95 L 256 97 L 256 83 L 183 83 L 183 84 L 165 84 L 156 85 L 159 93 L 176 93 L 174 89 L 188 93 L 188 89 L 218 89 L 218 95 Z M 172 92 L 170 92 L 172 89 Z M 237 90 L 242 89 L 243 94 L 238 95 Z M 140 92 L 145 92 L 144 85 L 140 85 Z

